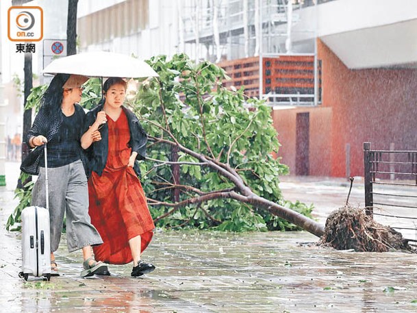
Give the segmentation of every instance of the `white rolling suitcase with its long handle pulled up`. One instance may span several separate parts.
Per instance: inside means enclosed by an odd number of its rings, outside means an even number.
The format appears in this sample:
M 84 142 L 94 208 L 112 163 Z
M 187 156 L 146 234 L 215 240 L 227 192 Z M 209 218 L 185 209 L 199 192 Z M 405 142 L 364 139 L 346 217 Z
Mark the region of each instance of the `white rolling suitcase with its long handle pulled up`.
M 22 271 L 25 280 L 29 275 L 51 279 L 51 233 L 49 231 L 48 163 L 45 143 L 45 189 L 47 208 L 30 206 L 23 209 L 22 217 Z

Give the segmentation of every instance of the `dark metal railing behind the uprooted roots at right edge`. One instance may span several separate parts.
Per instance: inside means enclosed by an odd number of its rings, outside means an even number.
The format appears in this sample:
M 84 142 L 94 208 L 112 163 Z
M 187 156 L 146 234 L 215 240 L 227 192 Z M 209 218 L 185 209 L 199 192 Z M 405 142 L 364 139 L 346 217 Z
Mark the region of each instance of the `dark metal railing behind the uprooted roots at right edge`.
M 364 172 L 366 214 L 405 221 L 392 228 L 417 234 L 417 151 L 372 150 L 364 142 Z

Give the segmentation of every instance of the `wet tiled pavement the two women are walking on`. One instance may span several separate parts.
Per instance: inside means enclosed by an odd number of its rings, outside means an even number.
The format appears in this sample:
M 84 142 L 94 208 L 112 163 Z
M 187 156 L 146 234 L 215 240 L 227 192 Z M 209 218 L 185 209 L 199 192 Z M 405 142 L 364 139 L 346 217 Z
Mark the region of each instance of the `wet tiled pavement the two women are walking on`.
M 417 312 L 417 255 L 333 251 L 306 232 L 157 231 L 144 253 L 157 269 L 138 279 L 131 266 L 81 279 L 81 252 L 62 242 L 62 276 L 25 282 L 20 235 L 3 226 L 11 186 L 0 189 L 1 312 Z

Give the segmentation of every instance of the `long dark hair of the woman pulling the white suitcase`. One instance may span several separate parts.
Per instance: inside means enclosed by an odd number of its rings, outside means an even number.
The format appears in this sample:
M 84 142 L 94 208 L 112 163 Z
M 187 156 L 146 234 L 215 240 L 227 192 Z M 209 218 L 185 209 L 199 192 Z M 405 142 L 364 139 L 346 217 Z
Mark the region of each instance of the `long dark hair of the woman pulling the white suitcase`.
M 69 74 L 57 74 L 51 80 L 51 84 L 40 102 L 41 108 L 46 110 L 47 114 L 57 112 L 61 108 L 62 99 L 64 98 L 62 86 L 64 86 Z

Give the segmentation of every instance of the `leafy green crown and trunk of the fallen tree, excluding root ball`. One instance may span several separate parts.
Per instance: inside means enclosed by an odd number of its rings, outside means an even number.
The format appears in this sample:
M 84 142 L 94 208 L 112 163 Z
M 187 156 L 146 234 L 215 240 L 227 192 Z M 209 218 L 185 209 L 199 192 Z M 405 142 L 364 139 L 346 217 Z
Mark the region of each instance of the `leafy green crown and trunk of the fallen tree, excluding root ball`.
M 279 142 L 264 101 L 225 88 L 225 72 L 210 62 L 179 54 L 149 64 L 160 79 L 142 82 L 132 107 L 152 142 L 142 173 L 155 222 L 199 227 L 205 220 L 223 230 L 295 225 L 323 235 L 311 208 L 281 195 L 279 176 L 288 167 L 273 158 Z

